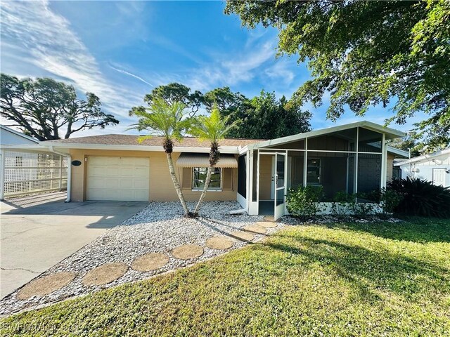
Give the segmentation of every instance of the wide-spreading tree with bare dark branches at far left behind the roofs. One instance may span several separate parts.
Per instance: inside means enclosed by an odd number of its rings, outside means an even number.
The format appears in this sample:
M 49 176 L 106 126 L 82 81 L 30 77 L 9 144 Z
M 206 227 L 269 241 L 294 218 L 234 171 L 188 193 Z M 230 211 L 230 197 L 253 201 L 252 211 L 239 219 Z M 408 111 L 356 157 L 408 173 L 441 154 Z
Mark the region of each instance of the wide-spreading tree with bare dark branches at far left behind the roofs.
M 73 86 L 49 78 L 18 79 L 0 75 L 0 115 L 38 140 L 69 138 L 86 128 L 118 124 L 101 110 L 94 93 L 77 98 Z M 61 134 L 62 133 L 62 134 Z

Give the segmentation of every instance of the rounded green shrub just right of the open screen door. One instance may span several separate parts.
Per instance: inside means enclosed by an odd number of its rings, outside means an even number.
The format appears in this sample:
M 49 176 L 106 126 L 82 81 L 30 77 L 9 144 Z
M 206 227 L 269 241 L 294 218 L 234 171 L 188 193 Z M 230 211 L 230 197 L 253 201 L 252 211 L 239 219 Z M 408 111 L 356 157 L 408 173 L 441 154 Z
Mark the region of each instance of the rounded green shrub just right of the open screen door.
M 322 198 L 322 186 L 300 186 L 296 190 L 289 190 L 286 207 L 293 216 L 314 216 L 321 211 L 318 203 Z

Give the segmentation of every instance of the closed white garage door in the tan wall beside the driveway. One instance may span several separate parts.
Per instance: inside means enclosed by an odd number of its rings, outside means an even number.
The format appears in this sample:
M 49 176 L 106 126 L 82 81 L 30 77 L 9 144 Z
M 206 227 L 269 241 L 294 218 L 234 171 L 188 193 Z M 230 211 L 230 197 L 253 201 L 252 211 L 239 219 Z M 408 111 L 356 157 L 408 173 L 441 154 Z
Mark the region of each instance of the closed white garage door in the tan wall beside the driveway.
M 147 201 L 148 158 L 88 157 L 87 199 Z

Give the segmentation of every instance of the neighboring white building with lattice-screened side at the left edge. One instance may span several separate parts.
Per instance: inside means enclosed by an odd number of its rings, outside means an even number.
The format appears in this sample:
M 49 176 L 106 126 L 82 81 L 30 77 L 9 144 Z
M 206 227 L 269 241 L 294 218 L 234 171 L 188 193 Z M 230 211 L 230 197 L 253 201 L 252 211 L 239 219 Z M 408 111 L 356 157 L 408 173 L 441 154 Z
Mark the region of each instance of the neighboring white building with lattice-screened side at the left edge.
M 67 159 L 27 150 L 38 144 L 39 140 L 0 125 L 0 199 L 65 189 Z

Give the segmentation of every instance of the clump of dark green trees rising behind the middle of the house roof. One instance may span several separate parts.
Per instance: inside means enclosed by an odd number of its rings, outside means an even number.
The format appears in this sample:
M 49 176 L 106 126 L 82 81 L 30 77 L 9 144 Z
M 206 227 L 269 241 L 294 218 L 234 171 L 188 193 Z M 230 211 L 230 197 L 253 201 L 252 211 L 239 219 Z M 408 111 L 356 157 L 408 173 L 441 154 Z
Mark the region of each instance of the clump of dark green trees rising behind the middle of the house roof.
M 145 101 L 151 105 L 160 99 L 168 105 L 181 98 L 188 110 L 193 114 L 202 107 L 204 112 L 211 112 L 217 107 L 227 125 L 233 124 L 227 136 L 230 138 L 269 139 L 290 136 L 311 130 L 311 113 L 303 111 L 300 104 L 287 100 L 285 97 L 277 99 L 275 93 L 262 91 L 255 98 L 233 92 L 229 87 L 214 88 L 203 94 L 183 84 L 172 83 L 158 86 L 152 93 L 146 95 Z M 145 107 L 133 107 L 130 114 L 141 113 Z

